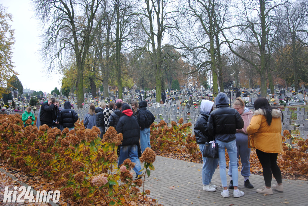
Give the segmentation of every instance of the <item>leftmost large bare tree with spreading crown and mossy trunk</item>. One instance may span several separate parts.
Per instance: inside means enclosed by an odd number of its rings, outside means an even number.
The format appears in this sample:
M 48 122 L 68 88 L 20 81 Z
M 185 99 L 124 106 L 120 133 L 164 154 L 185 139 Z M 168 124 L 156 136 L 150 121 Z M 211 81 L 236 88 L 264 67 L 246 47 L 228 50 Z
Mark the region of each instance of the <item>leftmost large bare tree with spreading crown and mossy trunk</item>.
M 65 56 L 73 52 L 77 65 L 77 107 L 83 97 L 83 70 L 93 37 L 103 19 L 96 18 L 102 0 L 34 0 L 37 17 L 47 23 L 43 53 L 50 62 L 49 71 L 57 70 Z M 79 13 L 80 12 L 80 13 Z M 66 54 L 67 52 L 67 54 Z

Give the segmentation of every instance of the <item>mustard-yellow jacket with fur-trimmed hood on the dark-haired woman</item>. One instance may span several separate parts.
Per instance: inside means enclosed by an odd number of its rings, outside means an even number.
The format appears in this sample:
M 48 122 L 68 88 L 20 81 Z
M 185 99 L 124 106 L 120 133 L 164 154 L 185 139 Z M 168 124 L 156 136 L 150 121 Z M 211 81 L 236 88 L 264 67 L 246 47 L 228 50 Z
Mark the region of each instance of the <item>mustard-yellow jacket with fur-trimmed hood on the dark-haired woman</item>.
M 256 149 L 267 153 L 280 153 L 282 152 L 281 111 L 273 109 L 272 117 L 272 123 L 269 126 L 264 111 L 262 109 L 254 111 L 246 131 L 250 135 L 253 134 Z

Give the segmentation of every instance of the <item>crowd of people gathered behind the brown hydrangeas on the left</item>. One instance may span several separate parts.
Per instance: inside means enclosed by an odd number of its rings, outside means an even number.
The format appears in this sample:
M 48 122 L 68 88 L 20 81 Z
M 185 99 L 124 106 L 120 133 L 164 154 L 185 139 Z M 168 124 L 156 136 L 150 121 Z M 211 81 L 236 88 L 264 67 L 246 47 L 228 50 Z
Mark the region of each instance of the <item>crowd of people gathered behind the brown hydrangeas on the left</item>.
M 123 141 L 118 149 L 119 161 L 121 165 L 128 157 L 135 163 L 134 171 L 136 179 L 141 178 L 141 166 L 139 157 L 145 148 L 151 147 L 150 144 L 150 126 L 154 122 L 154 115 L 147 110 L 147 102 L 136 101 L 129 104 L 123 103 L 122 99 L 117 99 L 115 103 L 100 102 L 97 107 L 94 104 L 89 106 L 89 111 L 85 114 L 83 124 L 86 129 L 92 129 L 96 126 L 100 130 L 100 139 L 106 133 L 108 127 L 114 127 L 118 133 L 123 134 Z M 22 114 L 22 121 L 26 127 L 26 120 L 35 120 L 35 116 L 31 113 L 31 107 Z M 64 108 L 61 107 L 59 101 L 50 98 L 43 102 L 39 109 L 36 126 L 48 125 L 48 127 L 57 127 L 61 131 L 68 128 L 70 131 L 74 129 L 75 122 L 78 120 L 78 114 L 71 109 L 69 101 L 64 102 Z

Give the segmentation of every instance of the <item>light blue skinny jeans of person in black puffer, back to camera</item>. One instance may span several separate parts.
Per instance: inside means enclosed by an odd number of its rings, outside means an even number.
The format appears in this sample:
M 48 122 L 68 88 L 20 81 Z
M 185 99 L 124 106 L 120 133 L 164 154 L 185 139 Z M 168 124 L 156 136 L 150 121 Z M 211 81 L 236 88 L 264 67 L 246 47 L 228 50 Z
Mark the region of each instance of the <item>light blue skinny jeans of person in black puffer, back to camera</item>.
M 221 179 L 222 187 L 227 187 L 227 175 L 226 175 L 226 157 L 225 157 L 225 148 L 230 159 L 230 167 L 232 171 L 232 180 L 233 186 L 238 186 L 238 172 L 237 172 L 237 147 L 235 139 L 231 142 L 223 142 L 215 139 L 215 142 L 218 143 L 218 161 L 219 161 L 219 173 Z

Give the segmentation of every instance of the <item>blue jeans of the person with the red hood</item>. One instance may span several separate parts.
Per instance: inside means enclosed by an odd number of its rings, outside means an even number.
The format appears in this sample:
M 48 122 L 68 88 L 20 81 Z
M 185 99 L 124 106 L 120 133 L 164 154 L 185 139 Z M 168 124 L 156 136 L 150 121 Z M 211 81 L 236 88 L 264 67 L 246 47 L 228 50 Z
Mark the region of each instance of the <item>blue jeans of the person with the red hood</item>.
M 120 152 L 120 158 L 119 158 L 119 166 L 123 164 L 124 160 L 129 157 L 129 159 L 135 163 L 135 167 L 133 168 L 136 172 L 136 175 L 141 175 L 141 165 L 140 161 L 138 159 L 138 148 L 136 144 L 133 145 L 127 145 L 127 146 L 120 146 L 121 152 Z

